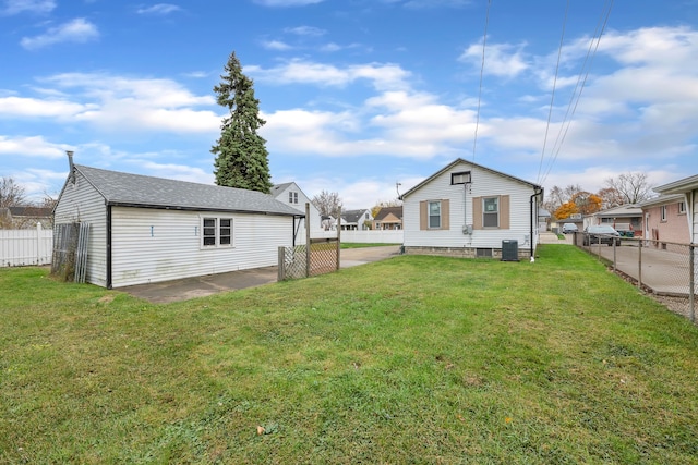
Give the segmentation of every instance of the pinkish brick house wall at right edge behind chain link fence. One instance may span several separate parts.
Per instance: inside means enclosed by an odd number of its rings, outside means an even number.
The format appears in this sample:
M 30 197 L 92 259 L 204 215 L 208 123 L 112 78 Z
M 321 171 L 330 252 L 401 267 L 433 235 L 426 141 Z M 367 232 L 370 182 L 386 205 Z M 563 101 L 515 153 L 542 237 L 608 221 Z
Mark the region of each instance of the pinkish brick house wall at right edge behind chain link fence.
M 683 194 L 660 195 L 640 204 L 645 217 L 645 238 L 690 242 L 686 197 Z

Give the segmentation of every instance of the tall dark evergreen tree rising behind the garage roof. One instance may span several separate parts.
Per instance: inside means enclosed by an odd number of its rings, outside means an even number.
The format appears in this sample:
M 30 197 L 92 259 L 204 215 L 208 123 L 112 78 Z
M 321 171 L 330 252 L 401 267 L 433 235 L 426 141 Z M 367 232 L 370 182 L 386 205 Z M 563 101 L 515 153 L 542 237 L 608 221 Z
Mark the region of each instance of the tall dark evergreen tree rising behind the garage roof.
M 266 140 L 257 134 L 266 121 L 260 118 L 260 101 L 254 98 L 251 78 L 242 74 L 242 66 L 233 51 L 224 68 L 226 74 L 214 87 L 218 105 L 230 115 L 222 120 L 220 137 L 210 152 L 216 155 L 216 184 L 260 191 L 272 188 Z

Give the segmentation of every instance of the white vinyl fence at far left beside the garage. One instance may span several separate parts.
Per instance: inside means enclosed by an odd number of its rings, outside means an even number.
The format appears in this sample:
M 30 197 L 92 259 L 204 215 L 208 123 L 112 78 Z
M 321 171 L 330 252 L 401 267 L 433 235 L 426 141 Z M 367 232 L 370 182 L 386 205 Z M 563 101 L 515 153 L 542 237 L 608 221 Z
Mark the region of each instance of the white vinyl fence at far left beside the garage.
M 0 230 L 0 267 L 49 265 L 53 231 L 38 224 L 33 230 Z

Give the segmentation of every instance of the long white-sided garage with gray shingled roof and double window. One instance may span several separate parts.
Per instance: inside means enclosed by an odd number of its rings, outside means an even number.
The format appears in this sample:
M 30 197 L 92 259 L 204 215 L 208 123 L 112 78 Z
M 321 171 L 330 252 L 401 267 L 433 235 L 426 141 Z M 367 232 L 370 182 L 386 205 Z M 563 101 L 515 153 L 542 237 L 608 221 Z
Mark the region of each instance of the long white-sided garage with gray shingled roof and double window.
M 86 281 L 104 287 L 268 267 L 298 210 L 268 194 L 74 164 L 56 225 L 89 223 Z

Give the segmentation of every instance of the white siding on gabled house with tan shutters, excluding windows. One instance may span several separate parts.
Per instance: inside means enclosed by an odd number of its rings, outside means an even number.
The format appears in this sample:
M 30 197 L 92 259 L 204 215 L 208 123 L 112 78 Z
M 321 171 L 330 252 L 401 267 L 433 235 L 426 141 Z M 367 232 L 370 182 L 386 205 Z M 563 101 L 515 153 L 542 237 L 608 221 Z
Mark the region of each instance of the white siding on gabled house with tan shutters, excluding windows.
M 450 173 L 470 171 L 472 184 L 466 194 L 464 185 L 452 185 Z M 469 163 L 458 163 L 431 182 L 412 192 L 404 200 L 402 223 L 406 247 L 464 247 L 464 248 L 502 248 L 502 241 L 518 242 L 519 249 L 530 248 L 531 185 L 483 170 Z M 465 225 L 473 224 L 473 197 L 509 195 L 509 229 L 473 230 L 472 234 L 464 234 Z M 449 200 L 448 230 L 420 230 L 421 200 Z M 465 201 L 464 201 L 465 199 Z M 533 244 L 538 237 L 537 211 L 533 210 Z

